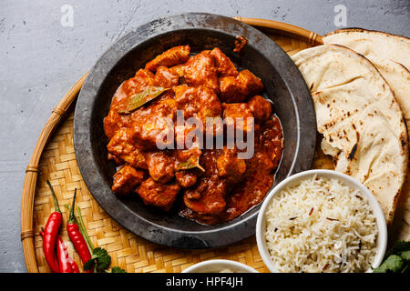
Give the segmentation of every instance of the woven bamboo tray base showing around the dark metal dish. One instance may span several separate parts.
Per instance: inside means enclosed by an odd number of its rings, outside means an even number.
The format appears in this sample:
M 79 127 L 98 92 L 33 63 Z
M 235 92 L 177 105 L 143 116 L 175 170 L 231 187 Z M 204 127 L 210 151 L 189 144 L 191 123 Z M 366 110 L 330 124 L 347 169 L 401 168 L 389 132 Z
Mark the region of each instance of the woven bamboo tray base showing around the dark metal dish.
M 282 35 L 271 36 L 289 55 L 294 55 L 310 46 L 307 42 L 295 38 Z M 332 164 L 328 164 L 323 155 L 316 154 L 313 166 L 329 168 Z M 223 258 L 241 262 L 260 272 L 269 272 L 259 255 L 255 236 L 226 247 L 181 250 L 153 244 L 119 226 L 98 206 L 79 173 L 73 145 L 73 112 L 68 114 L 65 121 L 56 128 L 40 160 L 40 175 L 37 180 L 34 208 L 36 263 L 39 272 L 50 272 L 44 258 L 42 238 L 39 236 L 40 228 L 46 225 L 48 216 L 54 211 L 53 198 L 46 185 L 47 179 L 51 181 L 56 190 L 56 196 L 63 212 L 64 223 L 60 234 L 70 256 L 74 258 L 78 266 L 82 266 L 80 258 L 73 249 L 65 227 L 68 219 L 65 205 L 71 203 L 75 188 L 77 188 L 77 205 L 81 208 L 87 232 L 94 246 L 101 246 L 108 250 L 112 257 L 111 266 L 120 266 L 129 273 L 178 273 L 200 261 Z

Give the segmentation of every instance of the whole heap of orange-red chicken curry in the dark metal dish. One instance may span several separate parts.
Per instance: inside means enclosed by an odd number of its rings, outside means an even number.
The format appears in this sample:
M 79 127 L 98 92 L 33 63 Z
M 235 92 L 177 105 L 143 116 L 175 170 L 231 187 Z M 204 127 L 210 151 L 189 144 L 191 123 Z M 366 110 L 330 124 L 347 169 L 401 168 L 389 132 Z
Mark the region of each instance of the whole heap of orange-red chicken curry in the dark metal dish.
M 271 102 L 259 95 L 262 90 L 260 78 L 249 70 L 238 72 L 218 47 L 190 55 L 190 46 L 180 45 L 155 57 L 118 87 L 104 119 L 108 159 L 118 165 L 113 192 L 137 194 L 146 205 L 164 211 L 180 197 L 179 215 L 206 225 L 231 220 L 259 204 L 272 187 L 283 148 L 282 127 Z M 147 96 L 145 104 L 136 106 L 137 97 Z M 159 150 L 161 132 L 171 130 L 177 143 L 178 136 L 193 129 L 175 127 L 177 110 L 205 126 L 210 117 L 253 117 L 251 126 L 232 124 L 241 126 L 245 136 L 254 129 L 253 156 L 240 159 L 239 150 L 229 149 L 226 141 L 219 149 Z M 172 128 L 164 117 L 174 121 Z M 212 134 L 226 133 L 222 126 Z

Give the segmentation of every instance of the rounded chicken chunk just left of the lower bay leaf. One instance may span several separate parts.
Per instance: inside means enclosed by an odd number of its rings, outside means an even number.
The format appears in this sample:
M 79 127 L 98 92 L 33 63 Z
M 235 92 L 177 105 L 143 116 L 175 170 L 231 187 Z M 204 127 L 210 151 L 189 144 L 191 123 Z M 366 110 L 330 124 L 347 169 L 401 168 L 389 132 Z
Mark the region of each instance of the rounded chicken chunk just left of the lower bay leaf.
M 154 152 L 147 154 L 147 165 L 149 175 L 154 181 L 159 183 L 167 183 L 174 177 L 175 162 L 174 159 L 168 156 L 165 152 Z

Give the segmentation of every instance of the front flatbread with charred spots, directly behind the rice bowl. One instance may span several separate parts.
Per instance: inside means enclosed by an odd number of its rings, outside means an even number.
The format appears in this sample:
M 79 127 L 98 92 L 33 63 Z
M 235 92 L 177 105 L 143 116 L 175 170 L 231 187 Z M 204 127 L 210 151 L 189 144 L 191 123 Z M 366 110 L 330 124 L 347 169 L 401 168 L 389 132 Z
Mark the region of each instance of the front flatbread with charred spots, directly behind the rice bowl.
M 320 45 L 292 59 L 311 90 L 323 153 L 373 192 L 390 225 L 408 159 L 395 95 L 374 65 L 347 47 Z

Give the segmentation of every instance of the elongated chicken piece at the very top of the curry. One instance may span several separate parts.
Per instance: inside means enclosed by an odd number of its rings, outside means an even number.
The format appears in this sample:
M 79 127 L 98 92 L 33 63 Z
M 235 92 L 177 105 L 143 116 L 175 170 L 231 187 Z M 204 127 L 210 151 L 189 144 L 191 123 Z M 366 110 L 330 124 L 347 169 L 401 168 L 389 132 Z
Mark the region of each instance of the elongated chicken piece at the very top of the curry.
M 160 65 L 172 66 L 183 64 L 190 56 L 190 45 L 179 45 L 169 48 L 161 55 L 157 55 L 152 61 L 149 61 L 145 68 L 149 71 L 155 71 Z

